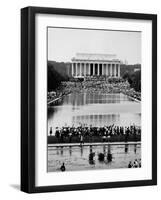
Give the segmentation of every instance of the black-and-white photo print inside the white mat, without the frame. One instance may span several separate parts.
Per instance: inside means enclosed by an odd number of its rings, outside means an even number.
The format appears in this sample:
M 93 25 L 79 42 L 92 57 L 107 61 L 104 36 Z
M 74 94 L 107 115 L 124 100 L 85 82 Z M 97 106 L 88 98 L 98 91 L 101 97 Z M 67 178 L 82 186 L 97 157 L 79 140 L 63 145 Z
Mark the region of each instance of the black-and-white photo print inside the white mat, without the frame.
M 141 168 L 142 32 L 46 34 L 47 172 Z

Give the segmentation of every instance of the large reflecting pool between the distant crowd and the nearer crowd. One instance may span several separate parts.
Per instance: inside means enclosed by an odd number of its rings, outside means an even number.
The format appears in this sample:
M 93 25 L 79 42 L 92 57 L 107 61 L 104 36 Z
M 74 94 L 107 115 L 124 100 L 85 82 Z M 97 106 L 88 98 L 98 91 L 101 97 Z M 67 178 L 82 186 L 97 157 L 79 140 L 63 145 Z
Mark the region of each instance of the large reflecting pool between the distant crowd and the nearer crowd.
M 99 100 L 98 100 L 99 99 Z M 140 126 L 140 104 L 123 94 L 70 94 L 48 108 L 48 134 L 62 126 Z

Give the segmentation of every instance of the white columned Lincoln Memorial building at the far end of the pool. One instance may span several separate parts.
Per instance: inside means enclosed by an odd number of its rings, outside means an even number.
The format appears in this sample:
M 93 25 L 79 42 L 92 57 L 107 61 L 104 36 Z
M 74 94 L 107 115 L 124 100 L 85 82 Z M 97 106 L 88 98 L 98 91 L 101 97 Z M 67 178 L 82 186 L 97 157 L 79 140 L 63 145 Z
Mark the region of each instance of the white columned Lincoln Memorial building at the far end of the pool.
M 113 54 L 77 53 L 72 58 L 72 76 L 120 77 L 120 60 Z

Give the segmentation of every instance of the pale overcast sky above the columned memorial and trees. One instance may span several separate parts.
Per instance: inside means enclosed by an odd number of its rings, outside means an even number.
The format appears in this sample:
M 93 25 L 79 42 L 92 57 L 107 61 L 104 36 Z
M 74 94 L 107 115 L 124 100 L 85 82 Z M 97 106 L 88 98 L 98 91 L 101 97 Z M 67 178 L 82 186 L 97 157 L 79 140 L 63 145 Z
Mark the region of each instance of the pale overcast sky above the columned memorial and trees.
M 116 54 L 141 64 L 141 32 L 48 28 L 48 60 L 70 62 L 76 53 Z

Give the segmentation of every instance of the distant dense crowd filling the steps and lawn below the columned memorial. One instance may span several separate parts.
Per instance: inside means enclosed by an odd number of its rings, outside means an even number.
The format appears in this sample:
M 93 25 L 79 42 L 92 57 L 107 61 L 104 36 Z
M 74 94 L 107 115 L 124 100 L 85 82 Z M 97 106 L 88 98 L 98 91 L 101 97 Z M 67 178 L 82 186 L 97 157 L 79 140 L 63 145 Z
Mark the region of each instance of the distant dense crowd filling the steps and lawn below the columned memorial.
M 90 78 L 89 80 L 84 81 L 67 81 L 62 82 L 61 86 L 57 88 L 56 91 L 48 92 L 48 102 L 52 99 L 61 97 L 65 94 L 72 92 L 102 92 L 102 93 L 123 93 L 127 96 L 130 96 L 134 99 L 141 101 L 141 93 L 136 92 L 133 88 L 130 87 L 127 81 L 123 79 L 97 79 L 95 77 Z

